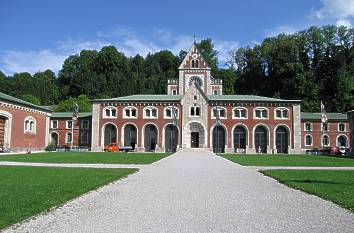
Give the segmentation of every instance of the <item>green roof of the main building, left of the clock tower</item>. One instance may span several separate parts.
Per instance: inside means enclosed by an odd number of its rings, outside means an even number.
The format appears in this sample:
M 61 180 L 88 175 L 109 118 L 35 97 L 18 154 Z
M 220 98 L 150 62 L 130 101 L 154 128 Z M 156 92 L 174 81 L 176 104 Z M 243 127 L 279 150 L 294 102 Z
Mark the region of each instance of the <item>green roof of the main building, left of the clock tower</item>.
M 116 97 L 111 99 L 96 99 L 93 102 L 106 102 L 106 101 L 117 101 L 117 102 L 125 102 L 125 101 L 180 101 L 182 99 L 181 95 L 129 95 Z

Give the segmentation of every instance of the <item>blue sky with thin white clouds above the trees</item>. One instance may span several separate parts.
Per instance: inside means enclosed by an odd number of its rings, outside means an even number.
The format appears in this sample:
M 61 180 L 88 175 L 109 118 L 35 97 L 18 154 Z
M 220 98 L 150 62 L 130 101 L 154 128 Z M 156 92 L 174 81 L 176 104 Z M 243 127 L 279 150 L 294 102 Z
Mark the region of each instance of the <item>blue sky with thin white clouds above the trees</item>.
M 354 0 L 0 0 L 0 70 L 61 69 L 82 49 L 114 45 L 127 56 L 188 50 L 211 38 L 230 51 L 312 25 L 354 24 Z

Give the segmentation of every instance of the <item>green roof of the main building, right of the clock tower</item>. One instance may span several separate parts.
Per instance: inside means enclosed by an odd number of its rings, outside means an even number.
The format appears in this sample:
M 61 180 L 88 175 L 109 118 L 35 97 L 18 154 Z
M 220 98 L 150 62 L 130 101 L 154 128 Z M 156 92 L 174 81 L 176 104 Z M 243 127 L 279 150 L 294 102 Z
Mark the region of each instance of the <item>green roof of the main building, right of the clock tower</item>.
M 256 101 L 256 102 L 301 102 L 301 100 L 284 100 L 257 95 L 208 95 L 211 101 Z

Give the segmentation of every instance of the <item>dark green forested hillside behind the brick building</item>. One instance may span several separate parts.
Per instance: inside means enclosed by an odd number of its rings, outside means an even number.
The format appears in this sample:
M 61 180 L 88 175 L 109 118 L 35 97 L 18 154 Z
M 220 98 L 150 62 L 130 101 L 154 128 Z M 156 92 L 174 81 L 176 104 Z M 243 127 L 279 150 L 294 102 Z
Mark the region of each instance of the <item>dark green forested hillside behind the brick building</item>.
M 227 68 L 220 68 L 211 39 L 198 43 L 215 78 L 224 81 L 224 94 L 256 94 L 303 100 L 303 111 L 354 109 L 354 29 L 311 27 L 292 35 L 266 38 L 261 44 L 231 51 Z M 82 50 L 68 57 L 56 76 L 50 70 L 0 71 L 0 91 L 41 105 L 72 98 L 110 98 L 132 94 L 165 94 L 167 79 L 178 77 L 186 51 L 165 50 L 127 57 L 114 46 Z M 68 100 L 69 99 L 69 100 Z M 66 102 L 63 102 L 66 100 Z

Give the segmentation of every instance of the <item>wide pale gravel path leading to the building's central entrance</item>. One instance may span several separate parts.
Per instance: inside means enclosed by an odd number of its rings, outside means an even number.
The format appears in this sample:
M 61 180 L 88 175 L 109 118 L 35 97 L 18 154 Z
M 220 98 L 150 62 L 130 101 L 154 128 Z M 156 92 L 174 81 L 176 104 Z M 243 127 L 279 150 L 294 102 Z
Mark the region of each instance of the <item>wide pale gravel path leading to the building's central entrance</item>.
M 6 232 L 353 232 L 354 215 L 203 150 L 176 153 Z

